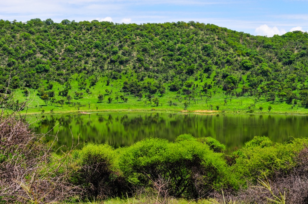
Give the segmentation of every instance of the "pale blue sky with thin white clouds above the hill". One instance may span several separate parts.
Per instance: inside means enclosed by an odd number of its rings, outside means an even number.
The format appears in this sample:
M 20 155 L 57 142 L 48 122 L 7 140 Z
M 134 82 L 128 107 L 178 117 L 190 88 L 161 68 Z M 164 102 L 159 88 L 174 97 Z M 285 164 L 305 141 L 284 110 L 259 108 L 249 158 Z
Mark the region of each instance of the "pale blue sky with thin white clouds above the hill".
M 195 21 L 272 37 L 308 31 L 308 0 L 0 0 L 0 19 L 115 23 Z

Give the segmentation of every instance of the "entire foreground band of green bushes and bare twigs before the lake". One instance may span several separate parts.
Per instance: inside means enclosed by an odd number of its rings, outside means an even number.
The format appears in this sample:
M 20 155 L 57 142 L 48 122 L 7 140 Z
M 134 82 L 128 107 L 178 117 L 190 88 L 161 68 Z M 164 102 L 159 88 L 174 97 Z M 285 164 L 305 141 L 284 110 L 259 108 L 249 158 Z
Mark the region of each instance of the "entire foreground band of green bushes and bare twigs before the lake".
M 308 139 L 257 136 L 226 154 L 217 140 L 183 134 L 114 149 L 87 144 L 55 154 L 15 112 L 0 116 L 0 203 L 303 203 Z M 184 199 L 184 200 L 183 200 Z

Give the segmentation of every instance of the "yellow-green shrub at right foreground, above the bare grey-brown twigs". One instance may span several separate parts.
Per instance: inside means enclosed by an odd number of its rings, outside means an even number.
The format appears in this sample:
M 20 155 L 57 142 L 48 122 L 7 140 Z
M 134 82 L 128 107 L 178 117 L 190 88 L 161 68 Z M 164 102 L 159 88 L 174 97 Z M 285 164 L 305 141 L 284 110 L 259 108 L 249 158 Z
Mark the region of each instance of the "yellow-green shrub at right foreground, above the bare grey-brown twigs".
M 236 164 L 231 168 L 238 177 L 253 182 L 262 172 L 269 177 L 278 171 L 287 173 L 297 165 L 296 155 L 307 143 L 307 138 L 274 144 L 269 138 L 255 137 L 241 150 L 234 152 Z

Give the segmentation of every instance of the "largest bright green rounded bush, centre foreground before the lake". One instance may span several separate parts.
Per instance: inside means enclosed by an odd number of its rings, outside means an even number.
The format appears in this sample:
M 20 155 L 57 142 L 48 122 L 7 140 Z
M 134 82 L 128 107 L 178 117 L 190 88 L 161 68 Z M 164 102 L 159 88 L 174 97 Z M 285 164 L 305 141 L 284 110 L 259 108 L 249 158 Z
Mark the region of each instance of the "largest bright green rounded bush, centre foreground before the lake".
M 120 169 L 135 188 L 152 188 L 161 196 L 198 198 L 221 186 L 237 187 L 223 154 L 191 135 L 175 143 L 147 138 L 120 151 Z

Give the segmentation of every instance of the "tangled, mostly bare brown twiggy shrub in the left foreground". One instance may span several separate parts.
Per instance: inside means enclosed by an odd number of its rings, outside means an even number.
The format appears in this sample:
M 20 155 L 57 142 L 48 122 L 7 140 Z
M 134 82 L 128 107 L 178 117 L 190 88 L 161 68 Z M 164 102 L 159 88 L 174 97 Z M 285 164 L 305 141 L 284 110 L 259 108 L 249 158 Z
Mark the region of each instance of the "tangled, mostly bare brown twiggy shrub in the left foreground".
M 51 203 L 78 195 L 67 182 L 66 155 L 51 154 L 45 136 L 32 133 L 18 111 L 0 113 L 0 202 Z

